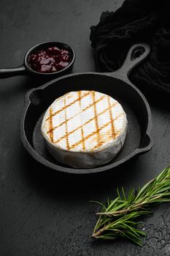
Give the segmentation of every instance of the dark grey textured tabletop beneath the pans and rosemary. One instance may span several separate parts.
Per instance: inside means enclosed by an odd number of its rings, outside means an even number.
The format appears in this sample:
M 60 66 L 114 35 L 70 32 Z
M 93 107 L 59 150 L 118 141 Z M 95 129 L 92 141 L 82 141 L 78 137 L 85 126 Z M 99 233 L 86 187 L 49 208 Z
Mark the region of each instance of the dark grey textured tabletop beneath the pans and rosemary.
M 102 11 L 116 10 L 122 2 L 1 1 L 0 66 L 20 65 L 32 45 L 59 39 L 76 50 L 74 72 L 95 70 L 89 27 L 98 23 Z M 158 97 L 152 99 L 154 92 L 146 95 L 152 110 L 150 152 L 109 175 L 81 178 L 53 173 L 23 149 L 19 135 L 23 98 L 37 84 L 23 76 L 0 80 L 0 255 L 170 255 L 168 203 L 144 219 L 147 236 L 141 248 L 128 241 L 93 241 L 90 234 L 98 206 L 88 202 L 115 197 L 117 186 L 141 186 L 169 163 L 169 96 L 160 102 Z

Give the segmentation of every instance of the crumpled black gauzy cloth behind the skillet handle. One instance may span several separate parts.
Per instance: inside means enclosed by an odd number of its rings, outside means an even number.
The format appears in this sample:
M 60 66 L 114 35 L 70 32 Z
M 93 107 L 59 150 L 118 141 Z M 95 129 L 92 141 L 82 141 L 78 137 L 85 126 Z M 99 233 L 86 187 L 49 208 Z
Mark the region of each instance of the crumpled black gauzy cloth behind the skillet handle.
M 90 41 L 99 72 L 111 72 L 123 64 L 128 49 L 146 42 L 150 55 L 129 76 L 142 89 L 170 92 L 170 0 L 125 0 L 116 12 L 103 12 L 91 26 Z

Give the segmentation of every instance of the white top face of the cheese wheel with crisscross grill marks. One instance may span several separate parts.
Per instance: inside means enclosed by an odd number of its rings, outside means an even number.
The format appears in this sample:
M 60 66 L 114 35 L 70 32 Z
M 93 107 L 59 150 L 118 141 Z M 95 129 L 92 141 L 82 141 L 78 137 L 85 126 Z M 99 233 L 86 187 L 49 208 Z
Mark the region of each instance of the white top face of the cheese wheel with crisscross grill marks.
M 96 151 L 116 140 L 126 125 L 125 112 L 112 97 L 98 91 L 71 91 L 47 109 L 42 134 L 67 151 Z

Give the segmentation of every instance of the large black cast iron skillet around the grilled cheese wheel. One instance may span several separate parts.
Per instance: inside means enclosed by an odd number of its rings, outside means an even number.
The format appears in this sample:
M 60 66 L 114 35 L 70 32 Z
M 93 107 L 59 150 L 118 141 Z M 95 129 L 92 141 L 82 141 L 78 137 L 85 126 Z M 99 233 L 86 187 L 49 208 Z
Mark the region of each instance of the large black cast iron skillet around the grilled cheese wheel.
M 53 170 L 65 173 L 98 173 L 110 170 L 152 148 L 151 113 L 144 95 L 129 80 L 131 69 L 144 60 L 150 47 L 143 43 L 133 45 L 128 51 L 123 67 L 111 73 L 84 72 L 65 75 L 27 92 L 20 120 L 23 145 L 34 159 Z M 125 144 L 112 162 L 91 169 L 75 169 L 57 162 L 45 148 L 40 131 L 45 110 L 58 97 L 69 91 L 94 90 L 108 94 L 123 105 L 128 118 Z

